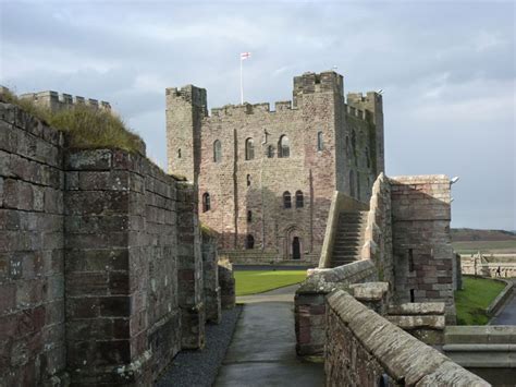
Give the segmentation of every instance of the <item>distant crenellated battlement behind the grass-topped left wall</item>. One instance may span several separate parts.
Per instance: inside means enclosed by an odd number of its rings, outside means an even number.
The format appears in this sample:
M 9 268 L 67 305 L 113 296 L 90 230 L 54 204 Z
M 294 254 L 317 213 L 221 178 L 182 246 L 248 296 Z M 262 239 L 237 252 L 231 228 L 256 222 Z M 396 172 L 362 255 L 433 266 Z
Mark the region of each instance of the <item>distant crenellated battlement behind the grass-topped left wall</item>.
M 20 95 L 20 98 L 30 99 L 34 102 L 48 107 L 54 111 L 70 108 L 73 106 L 78 106 L 78 105 L 84 105 L 84 106 L 89 106 L 95 109 L 111 111 L 111 105 L 105 100 L 99 101 L 93 98 L 72 96 L 71 94 L 66 94 L 66 93 L 59 94 L 58 92 L 53 92 L 53 90 L 26 93 L 26 94 Z

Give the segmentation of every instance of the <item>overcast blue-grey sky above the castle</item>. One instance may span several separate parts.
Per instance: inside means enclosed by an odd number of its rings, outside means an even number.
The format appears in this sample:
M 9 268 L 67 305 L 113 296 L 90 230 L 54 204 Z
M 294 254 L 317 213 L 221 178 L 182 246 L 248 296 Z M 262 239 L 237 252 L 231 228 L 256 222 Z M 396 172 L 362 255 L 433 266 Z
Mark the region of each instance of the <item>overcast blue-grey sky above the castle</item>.
M 388 176 L 445 173 L 453 227 L 516 230 L 513 2 L 0 0 L 0 83 L 108 100 L 165 166 L 164 88 L 209 107 L 292 98 L 337 66 L 384 90 Z

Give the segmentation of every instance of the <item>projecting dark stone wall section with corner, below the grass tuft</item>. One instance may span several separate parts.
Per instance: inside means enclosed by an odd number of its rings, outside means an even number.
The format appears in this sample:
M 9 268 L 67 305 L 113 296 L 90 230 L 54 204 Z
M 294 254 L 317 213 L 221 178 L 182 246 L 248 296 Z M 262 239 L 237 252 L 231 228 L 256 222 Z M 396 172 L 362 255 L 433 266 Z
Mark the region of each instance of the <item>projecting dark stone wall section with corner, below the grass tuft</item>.
M 183 347 L 176 182 L 119 150 L 65 157 L 67 366 L 74 383 L 149 384 Z M 194 216 L 194 213 L 191 213 Z M 183 327 L 183 331 L 181 331 Z M 202 336 L 202 332 L 198 332 Z

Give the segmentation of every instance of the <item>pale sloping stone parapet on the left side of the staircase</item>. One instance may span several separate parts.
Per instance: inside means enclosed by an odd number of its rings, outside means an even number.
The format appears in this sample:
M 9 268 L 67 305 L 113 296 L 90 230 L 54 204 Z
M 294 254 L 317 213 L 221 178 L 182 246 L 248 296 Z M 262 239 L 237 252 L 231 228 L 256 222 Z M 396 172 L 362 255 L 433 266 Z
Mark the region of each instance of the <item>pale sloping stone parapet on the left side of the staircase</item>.
M 333 242 L 339 228 L 339 215 L 345 210 L 367 210 L 368 205 L 359 202 L 345 193 L 335 191 L 328 213 L 327 230 L 324 241 L 321 249 L 321 257 L 319 259 L 319 268 L 328 268 L 331 266 L 333 252 Z

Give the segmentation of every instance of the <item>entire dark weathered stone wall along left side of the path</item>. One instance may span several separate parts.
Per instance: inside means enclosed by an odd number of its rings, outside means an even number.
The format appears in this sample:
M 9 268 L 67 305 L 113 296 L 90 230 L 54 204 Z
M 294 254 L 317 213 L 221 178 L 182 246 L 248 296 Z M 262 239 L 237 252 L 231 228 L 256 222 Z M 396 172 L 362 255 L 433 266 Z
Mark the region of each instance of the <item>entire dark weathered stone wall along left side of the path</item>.
M 150 385 L 220 319 L 195 188 L 0 109 L 0 385 Z

